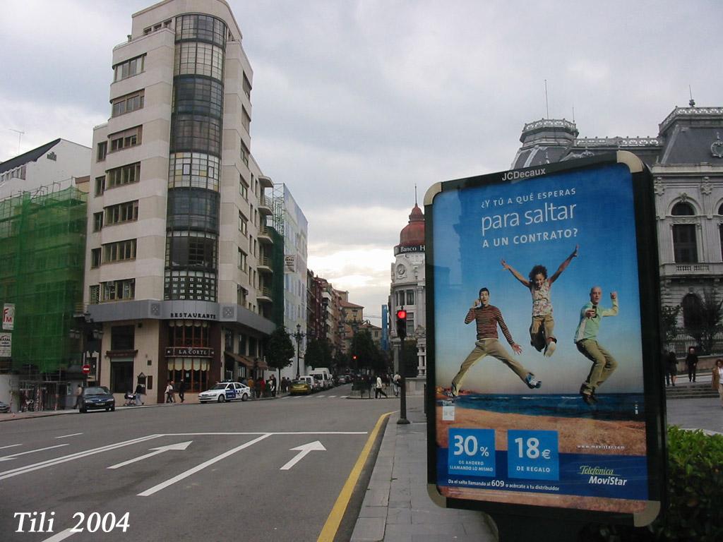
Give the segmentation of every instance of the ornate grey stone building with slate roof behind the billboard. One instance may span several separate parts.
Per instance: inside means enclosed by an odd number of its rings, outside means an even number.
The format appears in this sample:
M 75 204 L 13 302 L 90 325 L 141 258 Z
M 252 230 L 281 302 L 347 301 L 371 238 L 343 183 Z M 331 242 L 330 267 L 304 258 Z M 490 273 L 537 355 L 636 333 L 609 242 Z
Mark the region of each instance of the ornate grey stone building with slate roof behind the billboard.
M 525 124 L 512 168 L 628 150 L 654 178 L 662 306 L 677 319 L 664 348 L 685 356 L 701 340 L 688 332 L 701 325 L 706 305 L 723 298 L 723 108 L 676 107 L 654 137 L 578 137 L 574 122 L 541 119 Z M 702 325 L 701 325 L 702 327 Z M 687 329 L 685 329 L 687 328 Z M 718 332 L 703 350 L 723 351 Z

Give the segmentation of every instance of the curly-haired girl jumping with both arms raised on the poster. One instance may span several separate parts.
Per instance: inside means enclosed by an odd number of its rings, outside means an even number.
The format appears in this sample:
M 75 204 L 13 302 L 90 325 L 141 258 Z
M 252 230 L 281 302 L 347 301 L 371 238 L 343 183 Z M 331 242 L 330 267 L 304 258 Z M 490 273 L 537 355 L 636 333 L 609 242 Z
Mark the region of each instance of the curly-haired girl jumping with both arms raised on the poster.
M 549 290 L 552 283 L 557 280 L 562 272 L 567 269 L 570 262 L 578 255 L 579 246 L 575 246 L 573 253 L 557 267 L 555 275 L 547 278 L 547 267 L 536 265 L 529 274 L 529 279 L 524 278 L 520 272 L 515 270 L 504 259 L 500 260 L 502 268 L 512 273 L 514 278 L 519 280 L 532 294 L 532 323 L 530 324 L 530 344 L 538 352 L 544 349 L 544 355 L 549 358 L 555 352 L 557 339 L 555 338 L 555 319 L 552 317 L 552 301 L 550 301 Z

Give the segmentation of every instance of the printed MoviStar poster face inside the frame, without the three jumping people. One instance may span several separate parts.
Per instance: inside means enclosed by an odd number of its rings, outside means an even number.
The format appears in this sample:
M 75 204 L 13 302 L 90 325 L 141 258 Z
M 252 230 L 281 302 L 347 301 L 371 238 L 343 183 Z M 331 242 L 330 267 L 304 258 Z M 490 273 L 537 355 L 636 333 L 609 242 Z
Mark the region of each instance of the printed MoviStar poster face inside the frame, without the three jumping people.
M 442 191 L 435 196 L 432 220 L 440 493 L 641 510 L 648 498 L 646 427 L 628 167 L 604 165 Z M 536 265 L 546 268 L 547 280 L 555 277 L 549 291 L 551 335 L 557 340 L 552 356 L 531 345 L 531 289 L 507 267 L 530 281 Z M 461 365 L 476 345 L 476 322 L 465 319 L 479 304 L 481 288 L 487 288 L 487 303 L 499 309 L 521 352 L 513 351 L 497 324 L 495 348 L 513 362 L 487 355 L 464 372 Z M 602 291 L 596 310 L 604 315 L 596 342 L 615 362 L 608 364 L 604 382 L 596 382 L 596 402 L 586 402 L 581 391 L 593 364 L 575 340 L 593 288 Z M 446 397 L 462 372 L 458 397 Z M 540 387 L 530 389 L 526 374 Z

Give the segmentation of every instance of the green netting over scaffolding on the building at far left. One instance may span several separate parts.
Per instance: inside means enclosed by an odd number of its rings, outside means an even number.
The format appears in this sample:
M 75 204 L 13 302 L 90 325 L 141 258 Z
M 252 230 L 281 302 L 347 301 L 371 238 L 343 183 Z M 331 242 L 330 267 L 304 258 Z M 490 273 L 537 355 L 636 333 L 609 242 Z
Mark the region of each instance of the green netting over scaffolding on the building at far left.
M 87 194 L 42 186 L 0 200 L 0 301 L 15 305 L 10 368 L 30 382 L 80 364 Z

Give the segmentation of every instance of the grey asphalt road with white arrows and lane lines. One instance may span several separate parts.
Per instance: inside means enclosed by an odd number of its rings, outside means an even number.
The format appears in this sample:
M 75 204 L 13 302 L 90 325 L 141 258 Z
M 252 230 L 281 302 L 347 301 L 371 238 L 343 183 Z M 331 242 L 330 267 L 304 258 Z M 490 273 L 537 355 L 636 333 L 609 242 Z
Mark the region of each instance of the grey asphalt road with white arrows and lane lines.
M 348 388 L 3 423 L 0 539 L 316 541 L 375 423 L 398 409 Z

